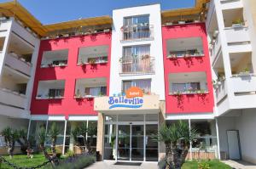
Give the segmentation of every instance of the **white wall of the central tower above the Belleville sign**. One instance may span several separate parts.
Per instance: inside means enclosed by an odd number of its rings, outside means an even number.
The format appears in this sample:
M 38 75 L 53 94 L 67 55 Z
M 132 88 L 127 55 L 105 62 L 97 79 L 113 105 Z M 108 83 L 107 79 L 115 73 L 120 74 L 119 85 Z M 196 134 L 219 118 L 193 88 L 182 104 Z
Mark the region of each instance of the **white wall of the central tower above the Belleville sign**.
M 147 41 L 120 42 L 124 17 L 149 14 L 149 25 L 154 25 L 154 39 Z M 160 95 L 160 100 L 165 99 L 164 65 L 162 52 L 160 4 L 139 6 L 133 8 L 121 8 L 113 10 L 113 32 L 110 70 L 110 90 L 109 94 L 120 93 L 122 91 L 123 80 L 148 79 L 151 82 L 151 93 Z M 150 45 L 150 56 L 154 57 L 155 73 L 151 75 L 120 76 L 119 59 L 122 57 L 122 49 L 125 46 L 139 44 Z

